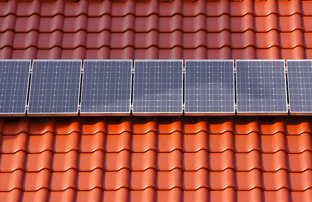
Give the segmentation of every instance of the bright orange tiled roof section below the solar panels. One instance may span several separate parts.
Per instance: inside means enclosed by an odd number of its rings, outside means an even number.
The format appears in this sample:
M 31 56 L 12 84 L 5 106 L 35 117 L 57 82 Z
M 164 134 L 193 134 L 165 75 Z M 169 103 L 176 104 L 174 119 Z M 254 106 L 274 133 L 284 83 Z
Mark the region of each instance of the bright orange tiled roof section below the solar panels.
M 6 117 L 0 201 L 311 200 L 308 116 Z

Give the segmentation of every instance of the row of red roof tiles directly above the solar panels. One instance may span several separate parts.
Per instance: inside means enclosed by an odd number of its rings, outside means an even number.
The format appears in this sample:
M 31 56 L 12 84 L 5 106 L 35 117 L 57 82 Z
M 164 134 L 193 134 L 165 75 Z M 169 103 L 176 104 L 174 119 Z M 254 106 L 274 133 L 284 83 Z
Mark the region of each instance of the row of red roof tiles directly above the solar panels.
M 176 46 L 172 49 L 158 49 L 151 46 L 147 49 L 134 49 L 128 46 L 124 49 L 110 49 L 104 46 L 100 49 L 85 49 L 79 46 L 76 49 L 0 49 L 0 59 L 310 59 L 312 48 L 305 49 L 296 46 L 292 49 L 280 49 L 272 46 L 268 49 L 256 49 L 248 46 L 245 49 L 231 49 L 224 46 L 220 49 L 207 49 L 199 46 L 195 49 L 183 49 Z

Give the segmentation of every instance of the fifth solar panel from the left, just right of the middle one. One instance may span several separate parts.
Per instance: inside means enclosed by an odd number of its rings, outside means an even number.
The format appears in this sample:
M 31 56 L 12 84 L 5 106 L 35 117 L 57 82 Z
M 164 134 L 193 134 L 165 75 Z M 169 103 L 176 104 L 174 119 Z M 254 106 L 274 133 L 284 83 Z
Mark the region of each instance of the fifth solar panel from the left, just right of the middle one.
M 185 115 L 235 115 L 233 60 L 185 60 Z

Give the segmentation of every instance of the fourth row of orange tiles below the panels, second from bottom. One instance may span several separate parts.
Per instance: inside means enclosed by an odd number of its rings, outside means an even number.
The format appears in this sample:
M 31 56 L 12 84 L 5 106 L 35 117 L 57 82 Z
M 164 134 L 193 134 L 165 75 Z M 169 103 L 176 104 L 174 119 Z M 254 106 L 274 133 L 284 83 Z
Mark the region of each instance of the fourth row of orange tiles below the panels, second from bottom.
M 252 190 L 260 188 L 266 191 L 275 191 L 287 188 L 293 191 L 304 191 L 312 188 L 312 171 L 301 173 L 279 170 L 276 172 L 261 172 L 254 169 L 248 172 L 235 172 L 232 169 L 224 171 L 103 171 L 95 169 L 90 172 L 81 172 L 69 169 L 65 172 L 51 172 L 48 169 L 39 172 L 0 173 L 0 191 L 22 189 L 23 191 L 37 191 L 49 189 L 62 191 L 73 188 L 88 191 L 94 188 L 102 190 L 118 190 L 122 187 L 129 190 L 144 190 L 153 187 L 156 190 L 171 190 L 175 187 L 183 190 L 197 190 L 205 187 L 209 190 L 224 190 L 232 187 L 235 190 Z M 248 179 L 248 180 L 246 180 Z

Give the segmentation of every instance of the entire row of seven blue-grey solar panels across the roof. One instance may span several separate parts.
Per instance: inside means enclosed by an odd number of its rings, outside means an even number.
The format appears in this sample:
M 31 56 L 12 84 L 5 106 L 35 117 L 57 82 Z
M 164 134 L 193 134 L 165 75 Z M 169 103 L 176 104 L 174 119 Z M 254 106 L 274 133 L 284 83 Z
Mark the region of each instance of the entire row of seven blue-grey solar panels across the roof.
M 79 108 L 80 115 L 130 115 L 131 104 L 133 115 L 182 115 L 183 103 L 185 115 L 288 114 L 284 60 L 236 60 L 235 70 L 233 60 L 185 60 L 185 68 L 183 60 L 81 65 L 0 60 L 0 115 L 78 115 Z M 287 60 L 287 70 L 290 113 L 312 114 L 312 60 Z

